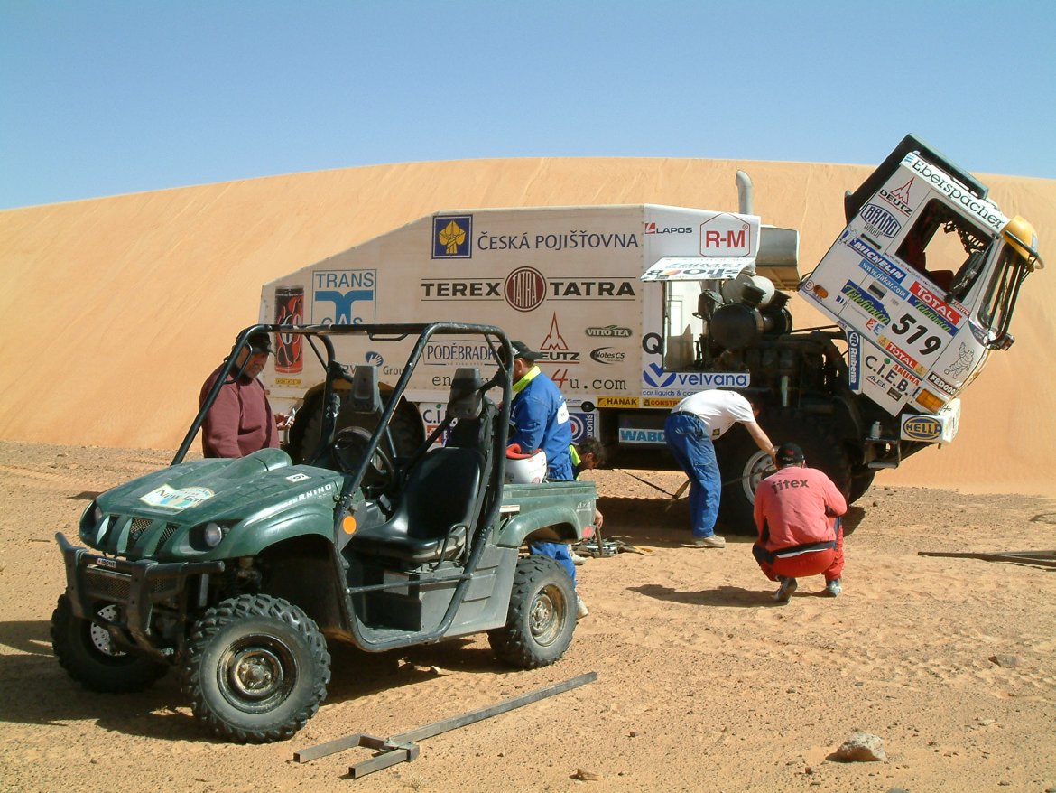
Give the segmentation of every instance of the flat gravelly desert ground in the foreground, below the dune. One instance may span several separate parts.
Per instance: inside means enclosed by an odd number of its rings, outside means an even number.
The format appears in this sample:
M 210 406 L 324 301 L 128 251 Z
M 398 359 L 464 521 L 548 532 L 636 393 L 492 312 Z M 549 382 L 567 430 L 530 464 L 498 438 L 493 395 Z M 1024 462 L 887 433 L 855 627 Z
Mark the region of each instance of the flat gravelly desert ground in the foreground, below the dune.
M 512 670 L 484 637 L 380 656 L 332 646 L 333 682 L 307 726 L 240 746 L 196 727 L 174 676 L 90 694 L 51 652 L 64 587 L 55 532 L 76 535 L 95 493 L 170 457 L 0 442 L 0 790 L 1056 790 L 1056 570 L 918 555 L 1052 549 L 1056 500 L 874 487 L 849 516 L 844 593 L 804 579 L 776 606 L 746 539 L 679 546 L 680 475 L 592 472 L 604 536 L 641 553 L 579 568 L 590 614 L 557 664 Z M 365 749 L 293 759 L 590 671 L 596 682 L 421 741 L 413 762 L 360 779 L 347 773 Z M 854 731 L 887 759 L 830 759 Z

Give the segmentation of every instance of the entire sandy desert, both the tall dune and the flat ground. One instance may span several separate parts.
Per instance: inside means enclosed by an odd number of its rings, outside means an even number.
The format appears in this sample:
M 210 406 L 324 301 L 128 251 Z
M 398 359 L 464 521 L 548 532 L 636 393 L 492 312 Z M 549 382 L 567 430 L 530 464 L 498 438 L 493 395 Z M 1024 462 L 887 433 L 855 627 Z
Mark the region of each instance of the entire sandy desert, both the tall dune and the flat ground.
M 483 637 L 407 654 L 334 647 L 329 694 L 307 727 L 235 746 L 203 736 L 172 676 L 103 697 L 53 658 L 64 587 L 55 532 L 75 535 L 93 494 L 168 463 L 202 381 L 257 321 L 262 283 L 441 209 L 733 209 L 738 168 L 763 222 L 800 229 L 800 272 L 843 227 L 844 191 L 871 170 L 410 163 L 0 211 L 0 789 L 1056 791 L 1056 573 L 918 555 L 1056 548 L 1048 271 L 1024 284 L 1018 342 L 966 393 L 956 441 L 883 472 L 856 505 L 838 598 L 818 596 L 813 579 L 774 606 L 747 540 L 679 546 L 680 475 L 603 471 L 605 536 L 642 552 L 580 568 L 591 613 L 553 666 L 510 670 Z M 983 179 L 1052 259 L 1056 180 Z M 293 761 L 350 733 L 395 735 L 588 671 L 596 682 L 431 738 L 414 762 L 360 780 L 345 774 L 365 750 Z M 886 761 L 828 759 L 856 730 L 883 740 Z

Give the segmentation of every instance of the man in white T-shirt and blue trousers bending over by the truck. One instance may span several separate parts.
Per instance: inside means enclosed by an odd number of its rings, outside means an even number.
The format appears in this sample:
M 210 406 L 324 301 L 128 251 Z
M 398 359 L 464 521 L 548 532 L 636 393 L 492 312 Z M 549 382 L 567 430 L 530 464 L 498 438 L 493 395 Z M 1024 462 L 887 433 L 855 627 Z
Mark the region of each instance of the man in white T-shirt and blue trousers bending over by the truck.
M 722 478 L 715 459 L 714 442 L 739 422 L 771 459 L 777 451 L 755 420 L 758 412 L 758 408 L 736 391 L 709 389 L 679 402 L 664 422 L 667 449 L 690 477 L 693 542 L 686 548 L 725 547 L 725 539 L 715 534 Z

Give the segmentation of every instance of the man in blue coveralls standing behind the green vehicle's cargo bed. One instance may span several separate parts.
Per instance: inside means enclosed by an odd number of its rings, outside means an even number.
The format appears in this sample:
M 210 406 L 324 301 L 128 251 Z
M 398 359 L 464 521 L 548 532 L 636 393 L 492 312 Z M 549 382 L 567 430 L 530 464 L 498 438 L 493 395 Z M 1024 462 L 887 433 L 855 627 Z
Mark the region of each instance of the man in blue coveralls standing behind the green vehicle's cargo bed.
M 572 444 L 572 426 L 568 421 L 568 406 L 561 389 L 535 366 L 543 353 L 532 350 L 524 342 L 511 340 L 513 347 L 513 403 L 510 405 L 510 423 L 513 432 L 507 443 L 518 444 L 531 451 L 541 448 L 546 453 L 547 479 L 571 481 L 576 478 L 568 447 Z M 564 542 L 532 542 L 532 553 L 549 556 L 558 561 L 576 586 L 576 565 L 568 546 Z M 577 619 L 588 613 L 586 604 L 576 594 Z

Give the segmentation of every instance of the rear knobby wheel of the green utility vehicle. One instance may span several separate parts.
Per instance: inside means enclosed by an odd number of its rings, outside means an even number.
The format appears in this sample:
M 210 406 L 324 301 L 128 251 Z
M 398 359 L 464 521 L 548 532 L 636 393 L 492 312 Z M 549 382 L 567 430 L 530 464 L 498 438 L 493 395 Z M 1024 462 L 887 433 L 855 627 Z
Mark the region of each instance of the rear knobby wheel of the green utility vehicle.
M 522 669 L 552 664 L 568 649 L 576 630 L 576 588 L 547 556 L 517 561 L 506 625 L 488 631 L 495 656 Z

